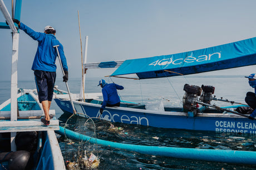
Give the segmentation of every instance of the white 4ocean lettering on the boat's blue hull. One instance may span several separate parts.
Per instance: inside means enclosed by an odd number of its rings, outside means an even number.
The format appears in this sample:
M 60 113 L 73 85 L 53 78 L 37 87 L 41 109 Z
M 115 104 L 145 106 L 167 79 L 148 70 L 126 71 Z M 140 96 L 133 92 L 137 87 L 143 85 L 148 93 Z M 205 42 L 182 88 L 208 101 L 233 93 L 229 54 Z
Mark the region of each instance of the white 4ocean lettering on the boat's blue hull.
M 96 117 L 99 117 L 100 111 L 97 113 Z M 141 125 L 141 122 L 144 121 L 143 125 L 149 126 L 149 120 L 147 120 L 146 117 L 140 117 L 140 116 L 127 116 L 127 115 L 122 115 L 120 117 L 119 114 L 113 114 L 108 110 L 104 110 L 102 112 L 102 115 L 100 115 L 101 119 L 104 119 L 106 121 L 111 121 L 111 122 L 122 122 L 122 123 L 130 123 L 130 124 L 137 124 Z

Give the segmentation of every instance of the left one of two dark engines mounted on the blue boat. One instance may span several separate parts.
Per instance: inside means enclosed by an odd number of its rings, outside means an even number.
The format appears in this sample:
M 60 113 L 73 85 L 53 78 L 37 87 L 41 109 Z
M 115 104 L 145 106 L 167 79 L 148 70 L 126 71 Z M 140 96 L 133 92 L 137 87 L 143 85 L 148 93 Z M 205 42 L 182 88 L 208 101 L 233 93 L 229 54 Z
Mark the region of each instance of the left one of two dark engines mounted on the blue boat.
M 202 92 L 201 87 L 185 84 L 183 90 L 185 91 L 183 96 L 183 108 L 189 111 L 194 111 L 196 109 L 198 96 L 200 96 Z

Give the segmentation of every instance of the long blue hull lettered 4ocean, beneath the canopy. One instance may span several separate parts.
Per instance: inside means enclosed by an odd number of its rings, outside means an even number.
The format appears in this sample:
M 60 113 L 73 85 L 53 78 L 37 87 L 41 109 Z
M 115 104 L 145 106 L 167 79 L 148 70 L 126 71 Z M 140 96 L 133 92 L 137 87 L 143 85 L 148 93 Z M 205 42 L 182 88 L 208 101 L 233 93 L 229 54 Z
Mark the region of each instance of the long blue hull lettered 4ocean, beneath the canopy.
M 70 101 L 55 99 L 55 102 L 64 112 L 73 113 Z M 178 111 L 106 107 L 100 115 L 101 105 L 74 101 L 74 106 L 78 115 L 82 117 L 100 116 L 100 119 L 110 122 L 221 133 L 256 134 L 256 123 L 253 120 L 234 114 L 198 114 L 193 117 L 188 116 L 188 113 Z

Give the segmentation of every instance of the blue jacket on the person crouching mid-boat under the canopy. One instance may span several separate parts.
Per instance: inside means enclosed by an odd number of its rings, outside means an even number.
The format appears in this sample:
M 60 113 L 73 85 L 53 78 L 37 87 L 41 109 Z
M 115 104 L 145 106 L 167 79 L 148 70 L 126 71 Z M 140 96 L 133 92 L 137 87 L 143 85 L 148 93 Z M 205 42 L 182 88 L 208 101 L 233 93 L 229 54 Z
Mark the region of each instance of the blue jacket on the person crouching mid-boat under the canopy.
M 111 84 L 106 84 L 102 88 L 102 95 L 103 95 L 103 102 L 101 108 L 104 109 L 107 104 L 114 105 L 120 102 L 119 95 L 117 94 L 117 90 L 122 90 L 124 89 L 123 86 L 111 83 Z

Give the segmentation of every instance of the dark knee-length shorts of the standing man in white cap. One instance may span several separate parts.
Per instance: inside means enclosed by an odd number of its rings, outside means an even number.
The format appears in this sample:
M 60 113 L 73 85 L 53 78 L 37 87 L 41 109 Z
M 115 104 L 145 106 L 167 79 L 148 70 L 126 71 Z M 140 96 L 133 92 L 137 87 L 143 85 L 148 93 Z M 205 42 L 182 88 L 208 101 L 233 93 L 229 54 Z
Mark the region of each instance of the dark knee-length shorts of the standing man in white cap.
M 56 72 L 35 70 L 34 75 L 39 101 L 52 101 Z

